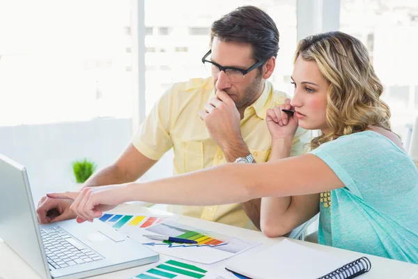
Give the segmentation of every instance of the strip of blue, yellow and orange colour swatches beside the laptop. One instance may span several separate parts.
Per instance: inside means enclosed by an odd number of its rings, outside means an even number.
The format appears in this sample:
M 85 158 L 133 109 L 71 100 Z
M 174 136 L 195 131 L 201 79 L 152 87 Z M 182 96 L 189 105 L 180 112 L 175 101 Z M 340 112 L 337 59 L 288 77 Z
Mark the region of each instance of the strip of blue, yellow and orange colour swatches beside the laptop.
M 115 229 L 121 229 L 122 227 L 141 227 L 146 228 L 150 225 L 161 223 L 167 218 L 158 216 L 133 216 L 122 214 L 104 214 L 99 218 L 100 221 L 107 223 L 107 225 L 114 227 Z

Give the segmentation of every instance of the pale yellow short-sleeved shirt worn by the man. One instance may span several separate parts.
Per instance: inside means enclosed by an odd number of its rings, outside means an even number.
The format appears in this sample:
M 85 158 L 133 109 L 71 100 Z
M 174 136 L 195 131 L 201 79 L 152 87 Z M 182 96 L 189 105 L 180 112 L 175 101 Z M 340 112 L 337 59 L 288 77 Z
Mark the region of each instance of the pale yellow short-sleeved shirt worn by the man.
M 203 110 L 203 105 L 213 97 L 215 90 L 212 77 L 173 84 L 141 124 L 138 133 L 132 138 L 132 144 L 144 156 L 153 160 L 159 160 L 173 147 L 174 174 L 226 163 L 224 153 L 209 137 L 205 123 L 199 118 L 199 110 Z M 274 91 L 272 84 L 266 81 L 260 98 L 244 112 L 240 122 L 242 138 L 257 163 L 268 161 L 270 156 L 271 137 L 265 121 L 266 111 L 274 105 L 281 105 L 286 98 L 286 93 Z M 293 140 L 292 156 L 302 154 L 303 145 L 310 139 L 311 133 L 298 128 Z M 210 191 L 210 188 L 206 190 Z M 256 229 L 240 204 L 175 205 L 169 206 L 169 211 Z

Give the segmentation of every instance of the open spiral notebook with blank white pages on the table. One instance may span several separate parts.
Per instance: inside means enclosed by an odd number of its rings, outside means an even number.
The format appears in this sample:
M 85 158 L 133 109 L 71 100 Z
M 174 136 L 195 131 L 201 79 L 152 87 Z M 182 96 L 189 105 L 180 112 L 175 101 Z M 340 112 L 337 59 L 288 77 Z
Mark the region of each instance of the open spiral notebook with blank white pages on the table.
M 233 259 L 226 269 L 250 279 L 345 279 L 368 272 L 371 262 L 366 257 L 338 257 L 284 239 L 256 254 Z

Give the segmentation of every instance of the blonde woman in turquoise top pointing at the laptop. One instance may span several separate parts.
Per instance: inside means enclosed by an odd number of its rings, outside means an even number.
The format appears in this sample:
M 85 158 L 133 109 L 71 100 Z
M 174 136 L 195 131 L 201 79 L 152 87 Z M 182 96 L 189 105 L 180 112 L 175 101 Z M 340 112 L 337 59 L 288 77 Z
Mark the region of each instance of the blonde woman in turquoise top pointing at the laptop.
M 298 125 L 321 130 L 307 155 L 48 196 L 75 199 L 79 221 L 134 200 L 210 205 L 263 197 L 262 227 L 270 236 L 279 230 L 277 212 L 292 208 L 290 216 L 301 218 L 316 211 L 320 199 L 319 243 L 418 264 L 418 172 L 392 133 L 383 86 L 364 45 L 341 32 L 305 38 L 292 80 L 293 100 L 268 111 L 268 126 L 281 130 L 283 142 Z M 302 195 L 307 202 L 293 202 Z

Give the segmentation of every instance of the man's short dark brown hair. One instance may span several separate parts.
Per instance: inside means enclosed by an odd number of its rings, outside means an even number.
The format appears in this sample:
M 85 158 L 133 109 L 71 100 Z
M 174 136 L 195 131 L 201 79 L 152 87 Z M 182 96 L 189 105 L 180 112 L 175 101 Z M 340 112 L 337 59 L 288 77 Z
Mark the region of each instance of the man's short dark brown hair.
M 279 31 L 263 10 L 254 6 L 236 8 L 212 23 L 210 45 L 217 37 L 223 42 L 249 43 L 256 61 L 267 61 L 279 51 Z

